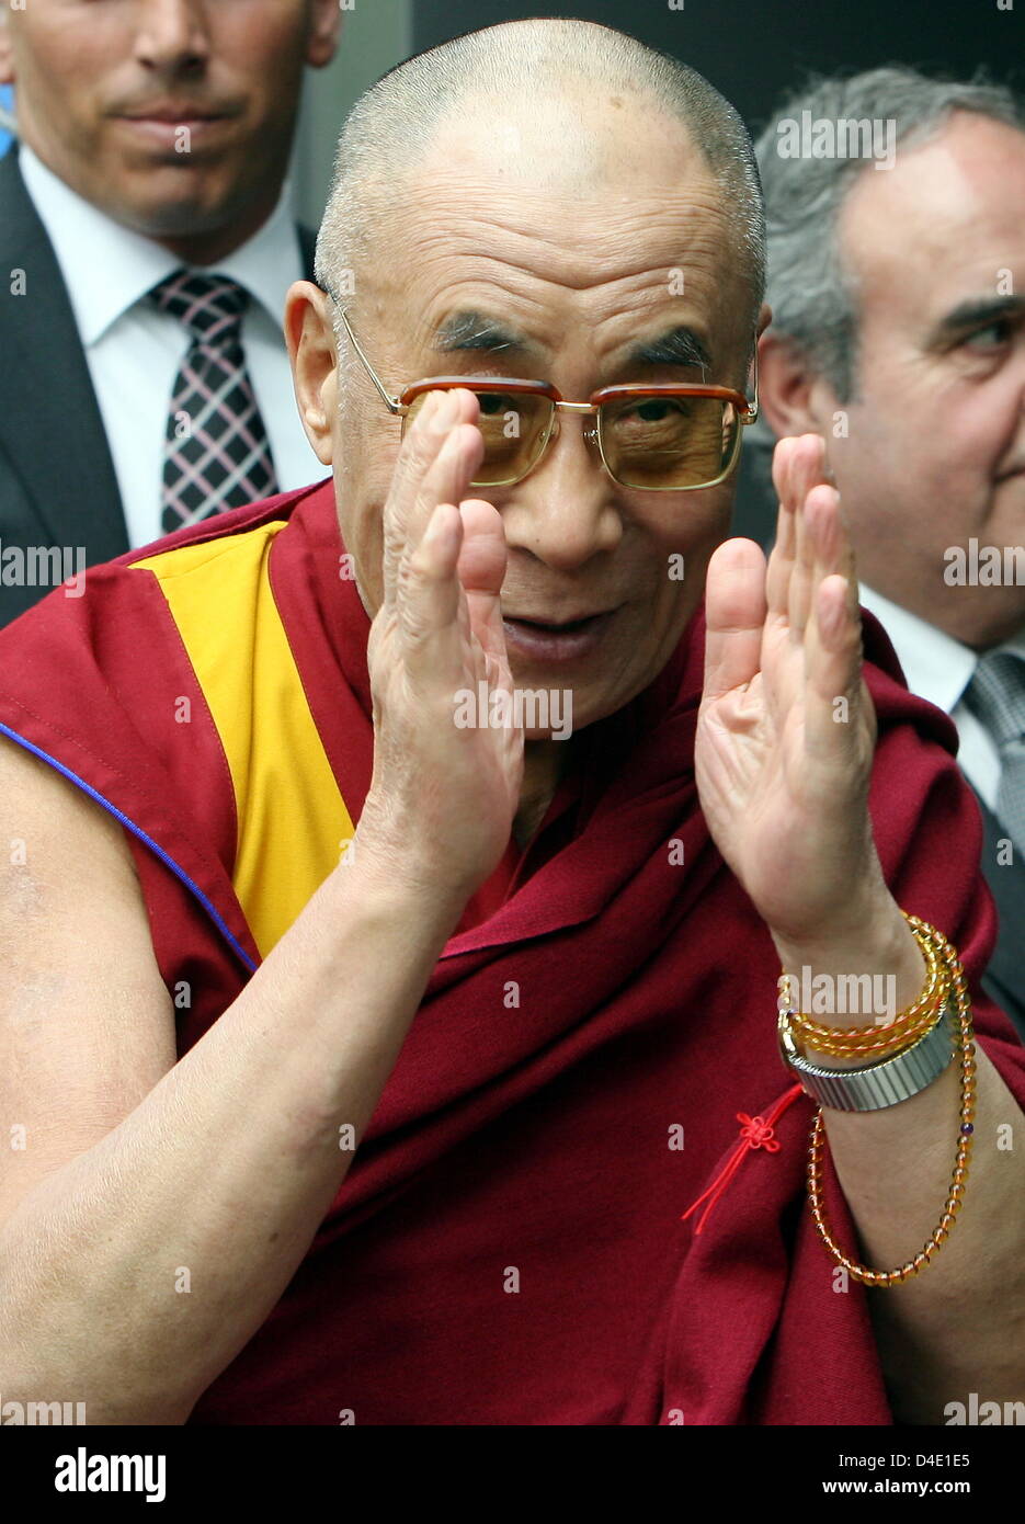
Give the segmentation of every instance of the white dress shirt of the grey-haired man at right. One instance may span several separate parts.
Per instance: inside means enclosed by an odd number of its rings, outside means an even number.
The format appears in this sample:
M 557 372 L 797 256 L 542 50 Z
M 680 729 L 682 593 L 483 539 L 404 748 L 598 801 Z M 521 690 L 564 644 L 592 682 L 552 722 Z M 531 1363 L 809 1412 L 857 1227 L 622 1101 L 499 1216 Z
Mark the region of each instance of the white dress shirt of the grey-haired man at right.
M 864 584 L 861 600 L 889 636 L 911 692 L 928 698 L 958 727 L 961 770 L 995 811 L 1001 779 L 999 753 L 985 725 L 964 703 L 966 689 L 979 663 L 978 652 Z M 1025 657 L 1025 631 L 995 649 Z

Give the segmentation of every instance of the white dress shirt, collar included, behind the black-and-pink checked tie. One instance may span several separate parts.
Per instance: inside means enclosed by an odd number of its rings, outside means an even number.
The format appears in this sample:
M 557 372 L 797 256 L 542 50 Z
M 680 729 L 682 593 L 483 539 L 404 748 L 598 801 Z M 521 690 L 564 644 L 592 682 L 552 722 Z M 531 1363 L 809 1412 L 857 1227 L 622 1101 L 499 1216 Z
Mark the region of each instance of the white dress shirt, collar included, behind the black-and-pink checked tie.
M 64 276 L 114 459 L 129 546 L 137 549 L 163 533 L 164 431 L 174 378 L 189 347 L 184 323 L 145 294 L 183 262 L 79 197 L 26 143 L 18 148 L 18 165 Z M 242 347 L 280 491 L 318 482 L 327 472 L 299 421 L 282 335 L 285 293 L 306 274 L 289 186 L 248 242 L 201 268 L 230 276 L 253 297 L 242 317 Z

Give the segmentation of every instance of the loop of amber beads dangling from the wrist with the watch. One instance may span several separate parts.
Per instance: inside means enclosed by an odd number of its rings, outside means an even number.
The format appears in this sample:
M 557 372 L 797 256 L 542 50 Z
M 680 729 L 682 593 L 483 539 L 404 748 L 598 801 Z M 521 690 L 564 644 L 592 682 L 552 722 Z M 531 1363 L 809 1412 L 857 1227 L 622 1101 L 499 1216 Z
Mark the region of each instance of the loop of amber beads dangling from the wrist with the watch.
M 914 1259 L 909 1259 L 906 1265 L 899 1269 L 870 1269 L 867 1265 L 859 1265 L 856 1260 L 848 1259 L 847 1254 L 835 1242 L 829 1222 L 825 1219 L 825 1212 L 822 1207 L 822 1109 L 815 1113 L 815 1120 L 812 1122 L 812 1137 L 809 1141 L 809 1161 L 807 1161 L 807 1193 L 812 1207 L 812 1216 L 815 1218 L 815 1228 L 825 1244 L 830 1254 L 844 1266 L 848 1276 L 854 1280 L 864 1282 L 867 1286 L 896 1286 L 899 1282 L 908 1280 L 909 1276 L 917 1276 L 918 1271 L 932 1260 L 932 1256 L 941 1248 L 956 1222 L 956 1213 L 961 1210 L 961 1198 L 964 1196 L 964 1183 L 969 1178 L 969 1160 L 972 1157 L 972 1135 L 975 1132 L 973 1117 L 975 1117 L 975 1042 L 972 1041 L 972 1000 L 969 997 L 969 988 L 964 978 L 964 969 L 958 954 L 950 946 L 947 939 L 935 927 L 929 927 L 924 920 L 918 920 L 915 916 L 908 917 L 912 928 L 917 927 L 924 934 L 928 934 L 940 956 L 944 959 L 949 969 L 949 988 L 953 989 L 958 1006 L 958 1039 L 961 1045 L 961 1126 L 958 1131 L 958 1152 L 953 1167 L 953 1180 L 950 1184 L 950 1193 L 943 1207 L 943 1216 L 935 1233 L 929 1242 L 921 1248 Z

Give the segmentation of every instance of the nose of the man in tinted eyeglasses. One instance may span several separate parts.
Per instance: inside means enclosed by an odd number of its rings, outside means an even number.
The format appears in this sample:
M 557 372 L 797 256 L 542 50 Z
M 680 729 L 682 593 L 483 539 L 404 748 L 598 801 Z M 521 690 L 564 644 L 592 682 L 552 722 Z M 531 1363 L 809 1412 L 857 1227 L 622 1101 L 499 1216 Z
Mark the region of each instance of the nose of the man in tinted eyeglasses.
M 527 550 L 557 572 L 573 572 L 618 546 L 623 518 L 594 439 L 594 418 L 556 415 L 545 454 L 507 489 L 501 515 L 510 550 Z

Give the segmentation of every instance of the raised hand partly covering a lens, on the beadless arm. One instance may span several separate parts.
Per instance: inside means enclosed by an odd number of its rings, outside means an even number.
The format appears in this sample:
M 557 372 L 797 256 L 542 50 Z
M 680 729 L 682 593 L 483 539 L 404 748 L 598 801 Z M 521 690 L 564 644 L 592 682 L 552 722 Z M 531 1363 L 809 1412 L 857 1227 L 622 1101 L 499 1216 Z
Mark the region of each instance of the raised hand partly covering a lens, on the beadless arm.
M 399 451 L 369 645 L 373 779 L 356 832 L 361 858 L 463 901 L 506 849 L 522 779 L 521 730 L 454 719 L 460 689 L 512 692 L 501 518 L 463 500 L 484 448 L 477 418 L 472 392 L 433 393 Z

